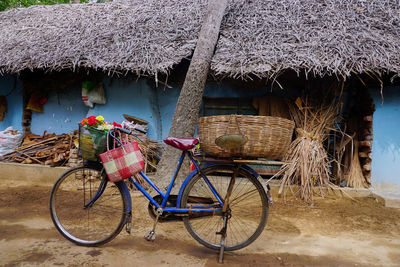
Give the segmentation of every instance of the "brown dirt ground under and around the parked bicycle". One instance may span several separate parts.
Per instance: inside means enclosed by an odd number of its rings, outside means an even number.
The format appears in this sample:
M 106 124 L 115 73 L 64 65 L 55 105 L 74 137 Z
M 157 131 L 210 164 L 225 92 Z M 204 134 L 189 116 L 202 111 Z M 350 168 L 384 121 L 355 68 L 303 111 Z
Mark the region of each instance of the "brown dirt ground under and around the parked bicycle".
M 133 196 L 132 234 L 98 248 L 76 246 L 54 228 L 50 186 L 0 183 L 0 266 L 221 266 L 217 252 L 193 240 L 182 222 L 151 228 L 147 201 Z M 250 246 L 225 253 L 226 266 L 399 266 L 400 210 L 379 199 L 277 199 L 267 227 Z

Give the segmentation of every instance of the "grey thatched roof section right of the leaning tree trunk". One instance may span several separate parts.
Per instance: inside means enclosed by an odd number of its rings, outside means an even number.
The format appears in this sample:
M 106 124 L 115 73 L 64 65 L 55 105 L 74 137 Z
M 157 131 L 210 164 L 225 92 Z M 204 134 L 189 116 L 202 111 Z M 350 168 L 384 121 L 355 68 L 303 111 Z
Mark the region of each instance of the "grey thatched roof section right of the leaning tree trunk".
M 398 0 L 238 2 L 223 23 L 212 64 L 217 73 L 400 73 Z

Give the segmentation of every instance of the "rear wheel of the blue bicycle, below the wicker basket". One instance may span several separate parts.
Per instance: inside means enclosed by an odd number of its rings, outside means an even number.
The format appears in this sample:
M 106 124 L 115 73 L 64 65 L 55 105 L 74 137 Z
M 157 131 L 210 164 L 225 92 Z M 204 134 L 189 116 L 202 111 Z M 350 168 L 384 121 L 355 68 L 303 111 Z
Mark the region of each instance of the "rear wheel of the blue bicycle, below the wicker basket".
M 222 199 L 225 198 L 234 168 L 231 165 L 213 165 L 202 170 Z M 198 205 L 198 198 L 193 197 L 211 198 L 219 205 L 199 173 L 194 175 L 183 189 L 181 208 L 188 208 L 190 201 Z M 228 220 L 224 249 L 232 251 L 254 242 L 264 230 L 268 217 L 267 196 L 261 183 L 243 168 L 239 170 L 235 180 L 228 207 L 231 210 L 231 218 Z M 217 232 L 221 231 L 223 225 L 221 214 L 209 216 L 189 214 L 183 217 L 183 222 L 190 235 L 200 244 L 210 249 L 220 249 L 221 236 Z

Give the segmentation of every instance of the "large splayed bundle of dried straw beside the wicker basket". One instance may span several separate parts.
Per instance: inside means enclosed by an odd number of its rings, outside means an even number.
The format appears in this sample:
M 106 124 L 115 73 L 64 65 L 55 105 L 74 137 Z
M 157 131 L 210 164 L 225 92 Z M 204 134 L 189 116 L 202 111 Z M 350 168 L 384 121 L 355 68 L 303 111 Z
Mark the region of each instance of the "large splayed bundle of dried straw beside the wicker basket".
M 322 107 L 299 108 L 290 107 L 292 117 L 298 127 L 297 137 L 290 144 L 284 158 L 282 168 L 275 176 L 281 176 L 279 194 L 291 189 L 294 196 L 300 196 L 306 202 L 313 202 L 314 187 L 319 186 L 323 196 L 322 187 L 332 187 L 330 177 L 330 159 L 323 146 L 328 137 L 328 132 L 333 129 L 337 118 L 337 106 L 331 103 Z M 299 185 L 299 190 L 294 192 L 291 185 Z

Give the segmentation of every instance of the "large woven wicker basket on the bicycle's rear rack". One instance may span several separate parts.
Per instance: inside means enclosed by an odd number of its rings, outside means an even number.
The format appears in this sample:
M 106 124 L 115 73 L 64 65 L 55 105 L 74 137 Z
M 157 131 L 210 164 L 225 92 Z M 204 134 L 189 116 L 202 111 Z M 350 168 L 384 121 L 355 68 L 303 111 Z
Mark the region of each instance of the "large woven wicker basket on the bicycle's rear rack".
M 270 116 L 220 115 L 199 119 L 201 149 L 216 157 L 280 159 L 289 147 L 294 122 Z M 242 134 L 249 141 L 238 149 L 221 149 L 215 139 L 226 134 Z

